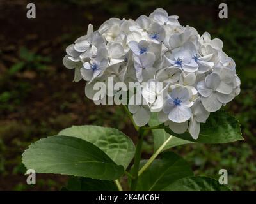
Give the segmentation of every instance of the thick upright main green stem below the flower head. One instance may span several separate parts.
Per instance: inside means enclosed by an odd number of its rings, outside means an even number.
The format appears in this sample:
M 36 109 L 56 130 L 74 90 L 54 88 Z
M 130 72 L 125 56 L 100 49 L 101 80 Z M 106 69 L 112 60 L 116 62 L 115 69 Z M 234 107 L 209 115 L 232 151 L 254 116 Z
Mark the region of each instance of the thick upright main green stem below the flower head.
M 132 182 L 131 182 L 131 191 L 135 191 L 137 182 L 138 182 L 138 172 L 140 168 L 140 159 L 141 159 L 141 150 L 142 150 L 142 144 L 143 144 L 143 133 L 144 130 L 142 128 L 138 129 L 139 131 L 139 137 L 138 137 L 138 143 L 136 145 L 135 150 L 135 156 L 134 156 L 134 166 L 132 168 Z

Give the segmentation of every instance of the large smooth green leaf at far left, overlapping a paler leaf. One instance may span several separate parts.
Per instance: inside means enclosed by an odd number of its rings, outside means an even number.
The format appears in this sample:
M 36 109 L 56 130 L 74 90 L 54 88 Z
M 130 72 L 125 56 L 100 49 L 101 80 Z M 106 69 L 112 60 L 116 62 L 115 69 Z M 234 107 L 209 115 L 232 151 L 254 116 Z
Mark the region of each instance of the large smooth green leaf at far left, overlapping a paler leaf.
M 124 174 L 102 150 L 70 136 L 50 136 L 32 143 L 22 154 L 27 169 L 92 179 L 114 180 Z

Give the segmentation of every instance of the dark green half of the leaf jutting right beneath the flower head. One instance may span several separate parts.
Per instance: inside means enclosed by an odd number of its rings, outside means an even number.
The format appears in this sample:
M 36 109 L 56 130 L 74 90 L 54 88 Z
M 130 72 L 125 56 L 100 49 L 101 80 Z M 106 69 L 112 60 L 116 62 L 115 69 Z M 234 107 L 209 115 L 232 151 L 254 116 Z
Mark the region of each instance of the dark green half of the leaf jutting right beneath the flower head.
M 165 131 L 183 140 L 199 143 L 227 143 L 243 140 L 239 122 L 223 110 L 211 113 L 206 123 L 201 123 L 200 126 L 197 140 L 194 140 L 188 131 L 183 134 L 173 133 L 170 128 L 165 128 Z

